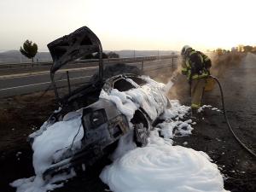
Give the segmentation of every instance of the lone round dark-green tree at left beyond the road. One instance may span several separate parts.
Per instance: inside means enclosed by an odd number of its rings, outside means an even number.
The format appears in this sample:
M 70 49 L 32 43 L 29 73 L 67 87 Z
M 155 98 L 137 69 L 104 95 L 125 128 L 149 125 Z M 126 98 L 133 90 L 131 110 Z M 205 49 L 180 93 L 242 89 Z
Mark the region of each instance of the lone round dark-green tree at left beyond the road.
M 32 63 L 34 62 L 34 57 L 38 53 L 38 45 L 32 44 L 32 41 L 26 39 L 23 44 L 23 47 L 20 47 L 20 53 L 25 55 L 28 59 L 32 59 Z

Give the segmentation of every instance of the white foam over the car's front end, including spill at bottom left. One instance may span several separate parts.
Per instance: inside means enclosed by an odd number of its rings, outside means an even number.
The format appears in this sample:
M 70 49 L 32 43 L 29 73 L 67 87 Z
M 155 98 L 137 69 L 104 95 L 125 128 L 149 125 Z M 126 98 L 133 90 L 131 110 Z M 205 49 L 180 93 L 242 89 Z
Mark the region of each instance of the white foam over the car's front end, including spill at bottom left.
M 45 131 L 40 136 L 34 137 L 32 149 L 34 151 L 33 167 L 36 176 L 20 178 L 10 183 L 11 186 L 17 188 L 17 192 L 46 192 L 47 190 L 60 188 L 62 185 L 55 184 L 55 182 L 63 181 L 76 175 L 73 171 L 68 174 L 62 173 L 50 178 L 47 182 L 43 180 L 42 176 L 52 162 L 61 157 L 61 154 L 67 151 L 68 148 L 71 148 L 72 143 L 72 149 L 80 147 L 80 140 L 84 136 L 84 130 L 79 129 L 81 116 L 75 117 L 49 125 L 45 127 Z M 75 137 L 77 133 L 78 135 Z

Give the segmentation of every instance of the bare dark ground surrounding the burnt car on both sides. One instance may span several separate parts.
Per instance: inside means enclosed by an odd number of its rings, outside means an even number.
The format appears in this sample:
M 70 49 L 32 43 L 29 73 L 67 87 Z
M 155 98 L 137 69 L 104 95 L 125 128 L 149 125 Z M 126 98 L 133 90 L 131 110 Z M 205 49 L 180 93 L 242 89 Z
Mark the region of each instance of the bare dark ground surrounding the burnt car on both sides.
M 236 135 L 256 153 L 256 56 L 247 55 L 239 64 L 229 67 L 219 77 L 224 89 L 225 105 L 230 124 Z M 222 63 L 223 65 L 225 63 Z M 159 73 L 158 73 L 159 74 Z M 157 79 L 162 79 L 158 77 Z M 15 191 L 9 183 L 17 178 L 31 177 L 32 149 L 26 142 L 28 134 L 37 129 L 55 109 L 51 92 L 15 96 L 0 100 L 0 191 Z M 184 77 L 178 78 L 170 92 L 171 99 L 189 105 L 189 86 Z M 204 103 L 222 108 L 218 87 L 206 92 Z M 231 135 L 223 113 L 205 109 L 204 119 L 194 125 L 193 135 L 177 137 L 175 143 L 195 148 L 209 154 L 224 174 L 225 189 L 233 192 L 256 191 L 256 160 L 241 148 Z M 18 153 L 18 152 L 21 152 Z M 105 191 L 108 186 L 98 178 L 102 167 L 109 161 L 102 160 L 81 177 L 73 178 L 62 189 L 55 191 Z

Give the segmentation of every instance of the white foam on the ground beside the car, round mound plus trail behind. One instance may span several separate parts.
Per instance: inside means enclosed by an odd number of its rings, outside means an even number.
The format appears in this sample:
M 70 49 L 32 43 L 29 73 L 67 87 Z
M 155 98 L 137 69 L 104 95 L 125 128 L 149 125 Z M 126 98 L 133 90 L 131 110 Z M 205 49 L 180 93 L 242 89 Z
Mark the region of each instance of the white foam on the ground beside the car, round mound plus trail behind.
M 173 137 L 191 134 L 193 122 L 183 120 L 188 107 L 175 100 L 171 103 L 172 109 L 163 115 L 166 120 L 151 131 L 146 147 L 134 148 L 129 140 L 132 137 L 120 140 L 113 164 L 106 166 L 100 175 L 112 191 L 226 191 L 218 166 L 207 154 L 172 146 Z

